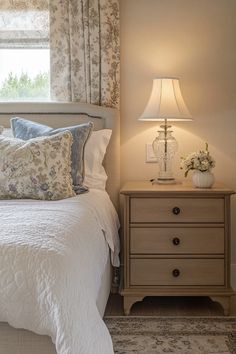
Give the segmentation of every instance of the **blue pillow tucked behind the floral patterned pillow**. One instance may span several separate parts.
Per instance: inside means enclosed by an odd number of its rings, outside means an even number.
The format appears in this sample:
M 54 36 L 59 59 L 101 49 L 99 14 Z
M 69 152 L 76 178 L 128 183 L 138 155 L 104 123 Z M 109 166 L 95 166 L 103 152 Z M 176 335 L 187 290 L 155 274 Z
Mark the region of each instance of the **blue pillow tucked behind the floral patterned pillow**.
M 54 135 L 69 130 L 73 136 L 71 147 L 71 175 L 74 190 L 77 194 L 88 190 L 83 186 L 84 180 L 84 147 L 93 130 L 93 123 L 84 123 L 73 127 L 53 129 L 47 125 L 32 122 L 23 118 L 11 119 L 12 132 L 15 138 L 29 140 L 39 136 Z

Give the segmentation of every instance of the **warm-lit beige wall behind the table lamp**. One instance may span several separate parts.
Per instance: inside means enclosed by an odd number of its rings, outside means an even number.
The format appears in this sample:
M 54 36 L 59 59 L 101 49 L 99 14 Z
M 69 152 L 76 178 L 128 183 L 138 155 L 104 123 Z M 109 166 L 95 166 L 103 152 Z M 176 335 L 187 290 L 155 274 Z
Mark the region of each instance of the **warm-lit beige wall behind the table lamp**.
M 180 156 L 207 141 L 217 180 L 236 190 L 236 1 L 121 0 L 122 181 L 148 179 L 145 143 L 157 125 L 137 121 L 156 76 L 180 77 L 192 123 L 174 125 Z M 236 263 L 236 198 L 232 202 L 233 263 Z

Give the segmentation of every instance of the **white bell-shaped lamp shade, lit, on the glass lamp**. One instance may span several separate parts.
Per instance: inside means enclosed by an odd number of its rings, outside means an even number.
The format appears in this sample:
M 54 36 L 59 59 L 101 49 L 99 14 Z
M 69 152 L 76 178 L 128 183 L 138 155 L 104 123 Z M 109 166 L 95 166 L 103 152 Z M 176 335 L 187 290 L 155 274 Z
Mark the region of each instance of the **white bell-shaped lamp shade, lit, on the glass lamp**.
M 156 78 L 153 80 L 151 96 L 139 120 L 192 120 L 180 91 L 179 79 Z

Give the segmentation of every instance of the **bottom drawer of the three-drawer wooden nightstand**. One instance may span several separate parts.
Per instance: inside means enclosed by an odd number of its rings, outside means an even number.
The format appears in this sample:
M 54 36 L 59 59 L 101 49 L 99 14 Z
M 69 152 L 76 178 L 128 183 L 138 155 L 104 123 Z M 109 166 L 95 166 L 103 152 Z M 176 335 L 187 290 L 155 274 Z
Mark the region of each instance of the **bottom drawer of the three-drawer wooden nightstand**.
M 224 259 L 131 259 L 131 286 L 224 285 Z

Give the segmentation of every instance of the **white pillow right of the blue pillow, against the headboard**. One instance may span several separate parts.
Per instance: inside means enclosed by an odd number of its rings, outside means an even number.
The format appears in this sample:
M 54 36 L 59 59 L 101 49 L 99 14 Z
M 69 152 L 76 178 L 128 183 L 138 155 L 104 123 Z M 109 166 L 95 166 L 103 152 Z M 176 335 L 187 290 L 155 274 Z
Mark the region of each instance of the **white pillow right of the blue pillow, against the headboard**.
M 84 184 L 89 188 L 102 190 L 105 190 L 106 188 L 107 174 L 102 162 L 104 160 L 111 134 L 112 131 L 110 129 L 93 131 L 87 141 L 87 144 L 85 145 Z

